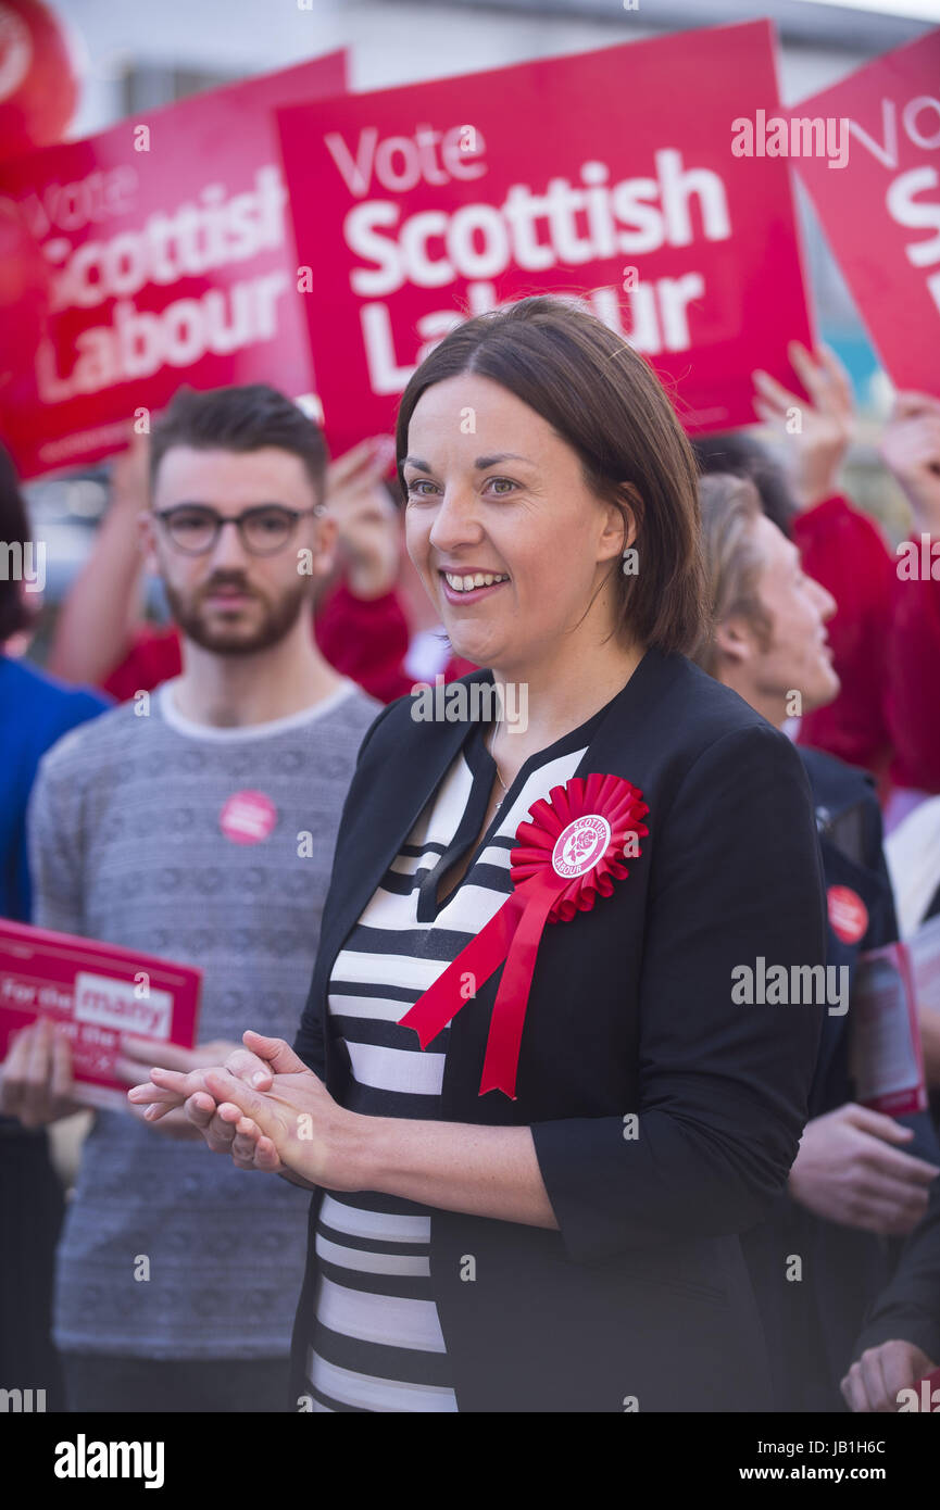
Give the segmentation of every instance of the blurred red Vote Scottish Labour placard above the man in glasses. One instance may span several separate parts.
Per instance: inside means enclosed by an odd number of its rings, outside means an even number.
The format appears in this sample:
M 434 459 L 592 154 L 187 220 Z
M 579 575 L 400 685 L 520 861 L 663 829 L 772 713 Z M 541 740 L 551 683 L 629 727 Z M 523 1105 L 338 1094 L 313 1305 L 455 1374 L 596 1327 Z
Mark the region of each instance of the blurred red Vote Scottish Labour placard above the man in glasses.
M 127 444 L 181 384 L 313 388 L 271 112 L 345 51 L 0 165 L 0 433 L 23 477 Z

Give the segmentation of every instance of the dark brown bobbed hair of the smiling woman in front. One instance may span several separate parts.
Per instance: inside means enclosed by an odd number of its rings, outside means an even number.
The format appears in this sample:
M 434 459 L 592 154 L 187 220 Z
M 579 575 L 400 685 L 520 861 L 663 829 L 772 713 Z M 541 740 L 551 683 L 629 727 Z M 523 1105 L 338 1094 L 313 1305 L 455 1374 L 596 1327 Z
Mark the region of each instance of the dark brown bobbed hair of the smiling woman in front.
M 623 572 L 620 557 L 611 568 L 620 622 L 642 645 L 688 651 L 704 615 L 695 459 L 653 368 L 567 297 L 543 294 L 478 314 L 444 337 L 402 394 L 399 480 L 419 399 L 461 373 L 521 399 L 577 453 L 595 497 L 633 510 L 636 575 Z

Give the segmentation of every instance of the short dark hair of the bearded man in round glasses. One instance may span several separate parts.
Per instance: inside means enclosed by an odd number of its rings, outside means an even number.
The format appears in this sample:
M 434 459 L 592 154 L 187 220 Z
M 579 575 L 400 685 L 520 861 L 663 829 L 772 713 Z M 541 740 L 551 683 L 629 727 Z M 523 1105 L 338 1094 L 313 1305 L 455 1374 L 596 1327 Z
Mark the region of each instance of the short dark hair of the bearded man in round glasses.
M 180 388 L 153 430 L 151 488 L 160 462 L 174 445 L 207 451 L 260 451 L 277 445 L 301 459 L 316 501 L 323 501 L 329 461 L 323 432 L 296 403 L 267 384 L 242 384 L 207 393 Z

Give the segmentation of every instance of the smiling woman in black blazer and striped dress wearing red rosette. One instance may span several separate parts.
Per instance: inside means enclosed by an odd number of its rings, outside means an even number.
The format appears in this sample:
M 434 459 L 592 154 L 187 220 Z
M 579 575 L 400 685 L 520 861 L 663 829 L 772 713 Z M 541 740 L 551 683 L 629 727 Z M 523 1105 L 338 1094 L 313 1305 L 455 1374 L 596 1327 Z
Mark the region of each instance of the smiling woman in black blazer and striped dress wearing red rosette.
M 524 686 L 527 719 L 385 708 L 295 1048 L 248 1033 L 131 1098 L 314 1190 L 299 1409 L 768 1407 L 737 1234 L 784 1188 L 821 1010 L 741 1006 L 731 969 L 822 963 L 822 891 L 796 753 L 683 654 L 688 441 L 642 358 L 536 297 L 441 341 L 396 442 L 464 686 Z

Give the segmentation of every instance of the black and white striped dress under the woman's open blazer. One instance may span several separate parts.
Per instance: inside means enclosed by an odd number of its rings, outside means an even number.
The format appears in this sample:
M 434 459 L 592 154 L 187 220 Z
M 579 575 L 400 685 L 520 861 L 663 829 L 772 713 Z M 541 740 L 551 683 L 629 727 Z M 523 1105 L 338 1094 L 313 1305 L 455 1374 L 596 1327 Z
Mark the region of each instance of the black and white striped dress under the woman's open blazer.
M 470 726 L 332 968 L 329 1013 L 354 1077 L 349 1110 L 440 1116 L 449 1028 L 422 1051 L 399 1019 L 512 891 L 515 830 L 538 797 L 574 775 L 597 717 L 526 761 L 438 909 L 438 883 L 476 840 L 496 776 L 485 728 Z M 431 1216 L 397 1196 L 323 1193 L 307 1350 L 313 1410 L 458 1409 L 431 1288 Z

